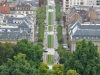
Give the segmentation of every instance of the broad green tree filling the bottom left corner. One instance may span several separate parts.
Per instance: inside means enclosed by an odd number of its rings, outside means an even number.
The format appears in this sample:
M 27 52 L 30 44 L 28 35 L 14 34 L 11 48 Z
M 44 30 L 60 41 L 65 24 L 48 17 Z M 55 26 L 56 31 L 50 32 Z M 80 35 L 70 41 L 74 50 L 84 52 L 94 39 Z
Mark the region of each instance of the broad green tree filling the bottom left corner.
M 25 58 L 25 54 L 19 53 L 14 60 L 9 59 L 0 66 L 0 75 L 38 75 L 34 65 L 30 66 Z

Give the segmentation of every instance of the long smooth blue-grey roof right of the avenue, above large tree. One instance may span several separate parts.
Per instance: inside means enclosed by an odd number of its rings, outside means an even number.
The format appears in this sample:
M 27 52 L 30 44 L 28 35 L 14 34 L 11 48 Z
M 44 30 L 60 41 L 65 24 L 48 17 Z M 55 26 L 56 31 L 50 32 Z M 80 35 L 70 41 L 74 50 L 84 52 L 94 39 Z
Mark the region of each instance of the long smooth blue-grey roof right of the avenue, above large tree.
M 99 37 L 100 38 L 100 25 L 81 25 L 78 21 L 69 25 L 70 30 L 77 26 L 77 30 L 72 35 L 73 38 L 79 37 Z

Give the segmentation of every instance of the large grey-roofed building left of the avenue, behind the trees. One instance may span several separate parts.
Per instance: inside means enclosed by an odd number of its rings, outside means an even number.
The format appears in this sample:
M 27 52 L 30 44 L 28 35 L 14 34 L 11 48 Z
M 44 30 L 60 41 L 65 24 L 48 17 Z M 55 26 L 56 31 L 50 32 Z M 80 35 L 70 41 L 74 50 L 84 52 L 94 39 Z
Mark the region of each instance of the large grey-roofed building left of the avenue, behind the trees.
M 3 21 L 0 23 L 0 42 L 16 43 L 23 38 L 34 42 L 34 21 L 31 16 L 5 19 L 3 15 L 0 15 L 0 18 Z

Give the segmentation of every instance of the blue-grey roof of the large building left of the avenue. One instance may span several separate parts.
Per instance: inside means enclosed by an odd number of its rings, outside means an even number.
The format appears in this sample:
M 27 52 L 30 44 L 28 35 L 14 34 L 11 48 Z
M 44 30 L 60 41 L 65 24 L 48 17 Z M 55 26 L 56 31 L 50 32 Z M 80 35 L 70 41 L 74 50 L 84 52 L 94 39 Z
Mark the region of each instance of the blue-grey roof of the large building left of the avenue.
M 31 17 L 8 17 L 5 18 L 7 22 L 7 24 L 12 24 L 14 26 L 0 26 L 0 40 L 2 39 L 21 39 L 23 38 L 23 35 L 26 35 L 26 38 L 30 38 L 30 32 L 31 32 L 31 28 L 30 26 L 32 25 L 31 21 Z M 16 26 L 15 23 L 13 23 L 13 21 L 21 21 L 21 23 L 18 23 L 18 25 Z

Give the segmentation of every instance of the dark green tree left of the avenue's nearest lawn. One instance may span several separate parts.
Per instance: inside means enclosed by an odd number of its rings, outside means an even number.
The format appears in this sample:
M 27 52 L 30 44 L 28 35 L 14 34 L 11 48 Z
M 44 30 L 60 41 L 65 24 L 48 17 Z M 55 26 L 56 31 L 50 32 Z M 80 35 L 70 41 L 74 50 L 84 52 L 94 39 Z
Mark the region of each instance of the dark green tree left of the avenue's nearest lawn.
M 17 43 L 17 51 L 17 53 L 26 54 L 27 60 L 35 61 L 38 65 L 42 58 L 43 47 L 39 44 L 33 46 L 27 39 L 23 39 Z

